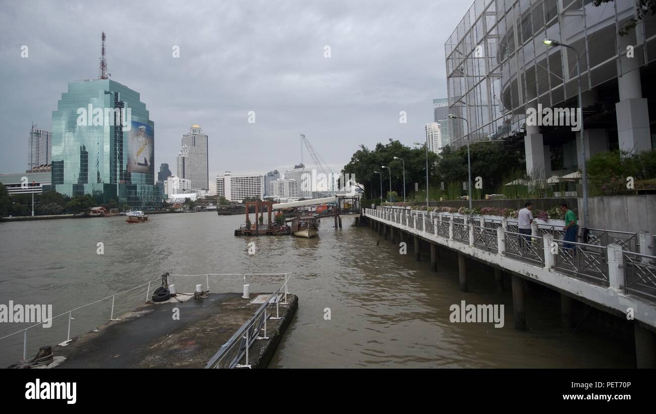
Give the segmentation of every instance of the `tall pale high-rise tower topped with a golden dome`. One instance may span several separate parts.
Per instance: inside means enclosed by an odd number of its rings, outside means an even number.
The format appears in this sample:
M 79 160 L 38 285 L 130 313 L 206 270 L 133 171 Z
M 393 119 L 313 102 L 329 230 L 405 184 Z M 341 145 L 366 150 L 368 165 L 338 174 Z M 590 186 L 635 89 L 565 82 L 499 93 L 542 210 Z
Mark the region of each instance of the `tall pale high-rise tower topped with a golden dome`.
M 182 136 L 182 149 L 178 155 L 178 177 L 192 180 L 194 190 L 209 190 L 207 135 L 203 134 L 198 124 L 193 124 L 189 133 Z

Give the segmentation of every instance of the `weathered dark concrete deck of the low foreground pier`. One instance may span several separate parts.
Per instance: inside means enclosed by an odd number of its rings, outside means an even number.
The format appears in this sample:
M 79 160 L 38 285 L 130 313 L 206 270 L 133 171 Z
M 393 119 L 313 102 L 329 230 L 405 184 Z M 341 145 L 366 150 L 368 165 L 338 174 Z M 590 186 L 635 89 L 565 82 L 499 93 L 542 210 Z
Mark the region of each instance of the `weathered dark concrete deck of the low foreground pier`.
M 256 294 L 251 293 L 251 299 L 254 297 Z M 295 304 L 296 297 L 290 297 Z M 260 307 L 261 304 L 251 305 L 251 299 L 242 299 L 240 293 L 211 293 L 207 299 L 144 305 L 121 316 L 119 321 L 99 326 L 98 332 L 85 333 L 64 347 L 52 347 L 55 357 L 66 358 L 54 367 L 205 367 L 221 345 Z M 269 312 L 272 306 L 275 312 L 275 305 L 270 305 Z M 289 305 L 280 307 L 282 313 Z M 179 309 L 180 320 L 173 319 L 174 308 Z M 283 321 L 289 322 L 285 318 L 269 320 L 268 328 L 272 333 L 278 331 Z

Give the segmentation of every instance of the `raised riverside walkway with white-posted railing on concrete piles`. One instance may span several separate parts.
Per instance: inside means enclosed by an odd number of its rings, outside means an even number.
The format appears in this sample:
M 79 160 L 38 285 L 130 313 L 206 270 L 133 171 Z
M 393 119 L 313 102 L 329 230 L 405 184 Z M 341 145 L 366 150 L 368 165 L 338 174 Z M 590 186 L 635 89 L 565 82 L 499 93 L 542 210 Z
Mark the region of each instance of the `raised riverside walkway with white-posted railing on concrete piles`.
M 380 235 L 412 239 L 419 260 L 420 240 L 430 244 L 433 271 L 438 247 L 457 252 L 461 290 L 466 292 L 466 257 L 511 275 L 516 328 L 525 329 L 522 278 L 561 294 L 564 319 L 572 299 L 617 316 L 634 318 L 638 367 L 656 367 L 656 239 L 646 232 L 591 229 L 588 243 L 564 242 L 562 228 L 533 223 L 529 239 L 520 235 L 516 220 L 467 217 L 453 213 L 405 208 L 363 209 L 363 216 Z M 410 241 L 410 240 L 408 240 Z

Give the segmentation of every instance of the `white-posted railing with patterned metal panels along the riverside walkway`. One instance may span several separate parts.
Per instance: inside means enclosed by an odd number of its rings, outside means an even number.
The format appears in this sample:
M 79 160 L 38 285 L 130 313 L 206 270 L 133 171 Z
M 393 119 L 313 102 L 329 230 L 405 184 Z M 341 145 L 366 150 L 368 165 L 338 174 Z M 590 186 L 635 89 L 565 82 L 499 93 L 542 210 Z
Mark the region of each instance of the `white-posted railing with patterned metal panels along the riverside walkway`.
M 365 210 L 365 215 L 375 217 L 371 211 Z M 509 225 L 506 218 L 488 226 L 489 220 L 481 219 L 477 222 L 480 225 L 474 225 L 466 223 L 464 216 L 453 213 L 439 213 L 437 218 L 432 217 L 434 215 L 418 210 L 402 211 L 401 228 L 426 238 L 444 238 L 491 254 L 496 250 L 497 255 L 656 300 L 656 237 L 650 233 L 640 232 L 634 238 L 633 233 L 596 230 L 596 236 L 607 238 L 605 242 L 609 244 L 604 246 L 603 241 L 586 244 L 560 240 L 562 229 L 554 226 L 539 227 L 533 223 L 531 235 L 523 235 L 516 233 L 516 225 Z M 434 221 L 423 229 L 421 225 L 415 225 L 418 221 L 424 223 L 424 219 Z M 392 221 L 390 224 L 396 223 Z M 493 231 L 497 232 L 496 242 L 492 240 Z M 596 240 L 600 240 L 599 237 Z M 640 253 L 629 250 L 634 245 L 638 246 Z

